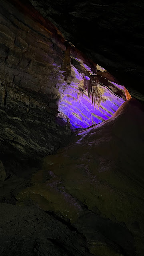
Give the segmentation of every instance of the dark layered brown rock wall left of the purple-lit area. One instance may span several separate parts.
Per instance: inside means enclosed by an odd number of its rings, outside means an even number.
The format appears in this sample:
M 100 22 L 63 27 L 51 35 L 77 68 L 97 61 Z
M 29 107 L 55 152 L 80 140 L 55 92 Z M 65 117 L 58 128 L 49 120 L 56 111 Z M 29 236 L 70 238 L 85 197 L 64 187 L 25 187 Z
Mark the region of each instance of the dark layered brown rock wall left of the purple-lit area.
M 39 20 L 38 20 L 39 18 Z M 45 25 L 45 26 L 44 26 Z M 0 2 L 0 141 L 23 155 L 49 154 L 68 140 L 55 122 L 64 73 L 65 40 L 37 12 Z M 68 63 L 67 63 L 68 66 Z

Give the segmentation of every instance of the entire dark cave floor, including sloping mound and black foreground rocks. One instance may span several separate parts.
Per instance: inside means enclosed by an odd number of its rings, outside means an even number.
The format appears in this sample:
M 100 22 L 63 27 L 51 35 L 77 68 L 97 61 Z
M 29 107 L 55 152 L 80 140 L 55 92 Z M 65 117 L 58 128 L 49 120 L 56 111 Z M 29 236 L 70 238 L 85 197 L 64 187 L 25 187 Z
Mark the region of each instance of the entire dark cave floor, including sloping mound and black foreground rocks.
M 5 180 L 14 202 L 0 204 L 1 255 L 142 256 L 143 127 L 143 105 L 130 99 L 76 130 L 15 192 Z

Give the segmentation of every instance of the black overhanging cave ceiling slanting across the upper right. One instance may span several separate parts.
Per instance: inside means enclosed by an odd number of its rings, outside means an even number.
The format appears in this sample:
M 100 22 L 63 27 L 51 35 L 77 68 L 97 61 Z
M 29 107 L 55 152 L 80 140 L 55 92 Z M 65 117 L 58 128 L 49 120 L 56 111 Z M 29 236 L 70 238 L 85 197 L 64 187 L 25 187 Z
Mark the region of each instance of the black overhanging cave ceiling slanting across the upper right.
M 76 48 L 144 100 L 144 2 L 30 0 Z

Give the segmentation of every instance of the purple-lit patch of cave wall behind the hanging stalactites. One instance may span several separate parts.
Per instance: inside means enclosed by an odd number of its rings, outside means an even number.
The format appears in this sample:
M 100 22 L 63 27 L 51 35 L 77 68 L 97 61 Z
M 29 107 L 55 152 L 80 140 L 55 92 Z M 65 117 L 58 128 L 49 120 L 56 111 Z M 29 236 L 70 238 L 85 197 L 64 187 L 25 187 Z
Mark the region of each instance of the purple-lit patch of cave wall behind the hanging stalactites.
M 92 124 L 99 124 L 110 118 L 119 108 L 124 99 L 117 96 L 104 84 L 99 84 L 98 89 L 102 93 L 105 102 L 101 102 L 99 107 L 92 104 L 92 99 L 84 91 L 84 81 L 82 74 L 75 66 L 71 66 L 71 75 L 67 82 L 58 84 L 61 99 L 58 102 L 58 111 L 61 118 L 67 120 L 74 128 L 86 128 Z M 87 77 L 87 79 L 89 79 Z M 110 82 L 110 81 L 109 81 Z M 124 87 L 114 82 L 117 88 L 124 91 Z

